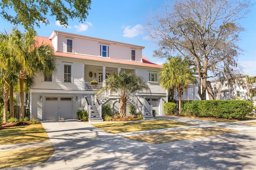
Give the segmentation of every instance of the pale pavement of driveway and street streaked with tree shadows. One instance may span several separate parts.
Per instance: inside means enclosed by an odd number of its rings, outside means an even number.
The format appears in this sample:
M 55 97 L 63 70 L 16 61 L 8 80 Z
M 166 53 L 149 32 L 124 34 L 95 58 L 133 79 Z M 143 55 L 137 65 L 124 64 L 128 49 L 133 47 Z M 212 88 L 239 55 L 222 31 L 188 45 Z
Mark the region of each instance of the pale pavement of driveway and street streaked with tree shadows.
M 158 116 L 156 119 L 172 119 L 199 125 L 112 134 L 78 120 L 44 121 L 42 125 L 54 146 L 54 154 L 42 164 L 12 169 L 256 168 L 256 126 L 245 125 L 245 121 L 221 123 L 168 116 Z M 206 126 L 225 127 L 238 132 L 158 145 L 123 138 L 124 135 Z

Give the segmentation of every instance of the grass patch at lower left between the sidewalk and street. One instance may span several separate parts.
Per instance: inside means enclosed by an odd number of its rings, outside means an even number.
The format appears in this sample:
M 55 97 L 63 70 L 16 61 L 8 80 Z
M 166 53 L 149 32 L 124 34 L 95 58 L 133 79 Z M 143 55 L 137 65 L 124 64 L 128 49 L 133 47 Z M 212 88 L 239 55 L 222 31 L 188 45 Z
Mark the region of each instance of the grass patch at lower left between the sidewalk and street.
M 45 162 L 53 154 L 53 147 L 38 147 L 0 152 L 0 169 Z

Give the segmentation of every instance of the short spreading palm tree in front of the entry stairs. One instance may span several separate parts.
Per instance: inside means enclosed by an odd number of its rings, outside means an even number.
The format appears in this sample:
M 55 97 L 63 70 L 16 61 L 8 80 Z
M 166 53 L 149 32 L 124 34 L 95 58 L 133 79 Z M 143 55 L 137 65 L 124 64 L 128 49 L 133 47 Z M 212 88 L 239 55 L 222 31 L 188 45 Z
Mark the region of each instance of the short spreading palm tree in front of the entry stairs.
M 126 102 L 131 94 L 142 90 L 150 91 L 142 77 L 137 76 L 135 73 L 126 72 L 114 73 L 112 76 L 108 76 L 106 78 L 106 86 L 97 93 L 105 90 L 114 90 L 120 97 L 120 117 L 126 116 Z

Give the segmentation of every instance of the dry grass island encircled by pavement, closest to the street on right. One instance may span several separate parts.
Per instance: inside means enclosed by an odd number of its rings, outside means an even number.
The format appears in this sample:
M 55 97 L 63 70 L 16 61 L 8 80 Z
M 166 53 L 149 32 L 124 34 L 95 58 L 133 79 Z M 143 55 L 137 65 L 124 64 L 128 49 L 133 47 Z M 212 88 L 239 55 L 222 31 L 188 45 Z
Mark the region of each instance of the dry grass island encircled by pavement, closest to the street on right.
M 186 139 L 193 139 L 199 137 L 206 137 L 212 135 L 220 135 L 224 133 L 236 132 L 231 129 L 224 129 L 220 127 L 203 127 L 203 128 L 192 128 L 179 131 L 168 131 L 168 132 L 158 132 L 149 133 L 144 135 L 132 135 L 126 136 L 126 139 L 131 139 L 134 141 L 160 144 L 174 141 L 181 141 Z

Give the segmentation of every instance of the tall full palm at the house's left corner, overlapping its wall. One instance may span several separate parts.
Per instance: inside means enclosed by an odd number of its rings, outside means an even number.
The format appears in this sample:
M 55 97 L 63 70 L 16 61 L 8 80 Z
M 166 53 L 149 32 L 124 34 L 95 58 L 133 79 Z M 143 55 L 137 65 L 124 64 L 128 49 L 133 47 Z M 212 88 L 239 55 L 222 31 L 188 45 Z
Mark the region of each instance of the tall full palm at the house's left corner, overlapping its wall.
M 6 40 L 8 54 L 14 57 L 20 83 L 20 119 L 24 118 L 24 82 L 34 74 L 52 74 L 56 71 L 54 49 L 48 44 L 37 44 L 36 33 L 21 33 L 13 28 L 10 34 L 2 35 Z

